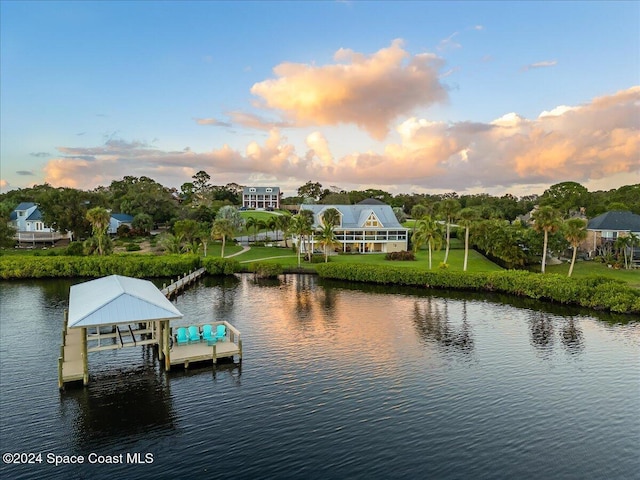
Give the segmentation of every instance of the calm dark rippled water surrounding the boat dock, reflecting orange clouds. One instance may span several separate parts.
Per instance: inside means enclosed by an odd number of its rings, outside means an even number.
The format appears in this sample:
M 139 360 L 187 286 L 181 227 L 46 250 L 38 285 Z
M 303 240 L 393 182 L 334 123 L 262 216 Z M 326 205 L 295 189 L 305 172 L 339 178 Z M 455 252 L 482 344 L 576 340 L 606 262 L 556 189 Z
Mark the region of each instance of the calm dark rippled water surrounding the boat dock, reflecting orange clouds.
M 229 320 L 241 366 L 165 374 L 148 347 L 93 353 L 89 387 L 61 394 L 70 285 L 0 283 L 0 450 L 43 454 L 0 466 L 3 479 L 639 478 L 633 319 L 310 276 L 207 279 L 176 301 L 183 323 Z M 153 463 L 46 463 L 90 453 Z

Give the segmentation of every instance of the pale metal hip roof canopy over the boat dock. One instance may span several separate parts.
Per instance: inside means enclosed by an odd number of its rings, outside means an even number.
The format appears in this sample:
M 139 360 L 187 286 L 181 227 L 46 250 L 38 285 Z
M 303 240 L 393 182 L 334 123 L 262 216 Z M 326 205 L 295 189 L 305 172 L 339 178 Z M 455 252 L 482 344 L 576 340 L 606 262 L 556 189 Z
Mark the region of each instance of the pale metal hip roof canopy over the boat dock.
M 111 275 L 73 285 L 69 292 L 71 328 L 182 317 L 149 280 Z

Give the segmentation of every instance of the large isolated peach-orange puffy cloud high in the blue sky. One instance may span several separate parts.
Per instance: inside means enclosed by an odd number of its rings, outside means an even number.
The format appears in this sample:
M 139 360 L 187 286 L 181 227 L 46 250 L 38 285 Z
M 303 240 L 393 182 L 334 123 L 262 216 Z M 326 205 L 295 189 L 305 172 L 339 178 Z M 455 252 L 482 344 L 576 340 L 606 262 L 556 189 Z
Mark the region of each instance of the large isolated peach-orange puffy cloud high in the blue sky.
M 256 83 L 251 93 L 299 126 L 352 123 L 376 139 L 398 116 L 447 100 L 438 78 L 442 59 L 412 57 L 401 40 L 368 56 L 340 49 L 334 59 L 324 66 L 281 63 L 274 68 L 277 78 Z

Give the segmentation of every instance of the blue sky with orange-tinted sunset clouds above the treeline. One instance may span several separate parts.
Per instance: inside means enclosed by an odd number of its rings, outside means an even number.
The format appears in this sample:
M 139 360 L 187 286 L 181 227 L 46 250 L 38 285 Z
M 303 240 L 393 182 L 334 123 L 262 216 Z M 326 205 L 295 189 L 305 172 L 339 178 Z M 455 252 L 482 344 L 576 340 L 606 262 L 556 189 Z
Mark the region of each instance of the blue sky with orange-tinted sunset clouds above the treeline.
M 640 2 L 0 0 L 0 191 L 640 183 Z

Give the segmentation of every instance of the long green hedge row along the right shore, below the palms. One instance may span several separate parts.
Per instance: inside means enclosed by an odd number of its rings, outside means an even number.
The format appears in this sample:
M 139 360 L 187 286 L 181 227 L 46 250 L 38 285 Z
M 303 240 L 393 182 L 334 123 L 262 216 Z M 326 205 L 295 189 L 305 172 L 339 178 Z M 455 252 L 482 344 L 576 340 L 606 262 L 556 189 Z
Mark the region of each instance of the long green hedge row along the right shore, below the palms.
M 501 272 L 425 272 L 375 265 L 318 265 L 324 278 L 427 288 L 490 291 L 580 305 L 617 313 L 640 313 L 640 290 L 606 277 L 567 278 L 522 270 Z

